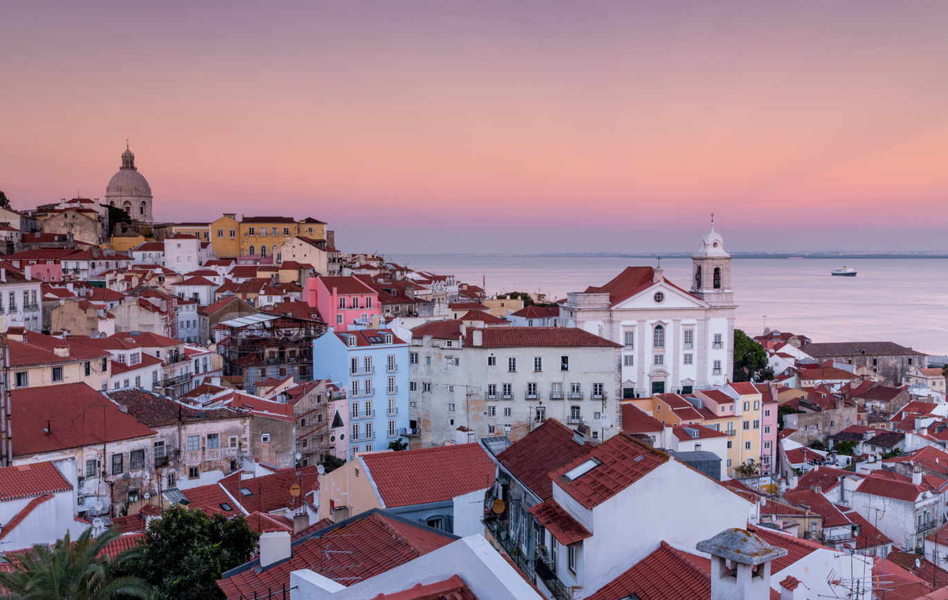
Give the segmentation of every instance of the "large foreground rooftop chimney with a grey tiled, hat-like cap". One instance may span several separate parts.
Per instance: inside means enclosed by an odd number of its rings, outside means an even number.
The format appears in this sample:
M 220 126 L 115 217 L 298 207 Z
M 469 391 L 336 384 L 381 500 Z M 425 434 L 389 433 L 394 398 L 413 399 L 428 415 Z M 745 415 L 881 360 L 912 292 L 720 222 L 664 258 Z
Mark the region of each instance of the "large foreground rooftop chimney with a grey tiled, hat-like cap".
M 770 597 L 771 562 L 786 556 L 745 529 L 725 529 L 698 542 L 711 555 L 711 600 L 758 600 Z

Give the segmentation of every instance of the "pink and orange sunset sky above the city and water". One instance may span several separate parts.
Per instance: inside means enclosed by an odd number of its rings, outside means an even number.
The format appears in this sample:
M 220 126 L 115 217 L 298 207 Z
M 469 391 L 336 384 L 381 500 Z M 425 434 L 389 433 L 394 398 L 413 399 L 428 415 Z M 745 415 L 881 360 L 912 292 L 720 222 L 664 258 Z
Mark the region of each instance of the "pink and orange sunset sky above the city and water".
M 348 251 L 942 249 L 948 2 L 9 3 L 0 190 Z M 683 241 L 686 243 L 683 247 Z

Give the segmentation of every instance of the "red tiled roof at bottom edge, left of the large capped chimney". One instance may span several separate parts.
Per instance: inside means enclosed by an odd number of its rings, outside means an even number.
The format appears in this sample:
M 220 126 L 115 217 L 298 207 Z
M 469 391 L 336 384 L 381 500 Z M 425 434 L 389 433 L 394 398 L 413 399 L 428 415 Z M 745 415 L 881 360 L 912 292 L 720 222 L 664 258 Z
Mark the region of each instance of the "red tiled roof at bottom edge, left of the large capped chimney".
M 711 597 L 711 560 L 662 541 L 654 552 L 593 593 L 588 600 L 648 600 Z

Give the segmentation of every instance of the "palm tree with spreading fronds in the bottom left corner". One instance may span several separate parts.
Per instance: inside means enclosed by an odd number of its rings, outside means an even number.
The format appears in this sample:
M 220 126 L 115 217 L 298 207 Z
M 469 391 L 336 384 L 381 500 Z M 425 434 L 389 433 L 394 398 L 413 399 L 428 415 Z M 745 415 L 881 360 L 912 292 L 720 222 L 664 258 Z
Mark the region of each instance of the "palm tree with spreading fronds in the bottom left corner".
M 119 535 L 110 529 L 93 537 L 89 528 L 76 541 L 66 534 L 51 547 L 34 546 L 13 557 L 13 571 L 0 573 L 0 586 L 7 589 L 10 600 L 148 598 L 151 587 L 147 583 L 121 573 L 129 560 L 140 555 L 140 549 L 114 557 L 103 552 Z

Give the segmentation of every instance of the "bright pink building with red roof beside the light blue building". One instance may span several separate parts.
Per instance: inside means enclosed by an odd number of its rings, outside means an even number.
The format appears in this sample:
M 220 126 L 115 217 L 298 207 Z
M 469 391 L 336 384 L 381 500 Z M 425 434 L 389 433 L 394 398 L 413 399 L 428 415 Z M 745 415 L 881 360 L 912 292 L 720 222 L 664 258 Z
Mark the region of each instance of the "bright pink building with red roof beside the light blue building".
M 337 332 L 364 329 L 382 317 L 378 293 L 356 277 L 310 277 L 303 298 Z

